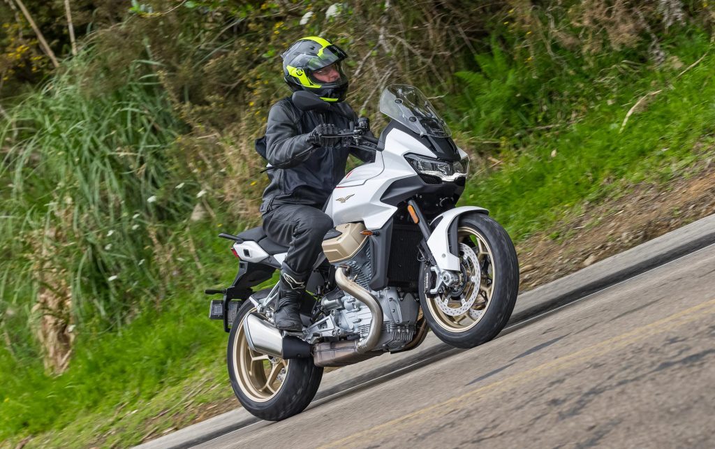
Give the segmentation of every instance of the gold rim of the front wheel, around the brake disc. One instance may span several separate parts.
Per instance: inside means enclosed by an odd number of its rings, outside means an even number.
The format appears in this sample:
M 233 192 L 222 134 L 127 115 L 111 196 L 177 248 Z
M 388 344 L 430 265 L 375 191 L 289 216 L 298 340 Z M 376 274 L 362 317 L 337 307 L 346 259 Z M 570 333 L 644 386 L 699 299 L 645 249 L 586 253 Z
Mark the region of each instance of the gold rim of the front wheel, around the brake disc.
M 489 263 L 486 272 L 482 271 L 480 273 L 480 283 L 477 301 L 472 307 L 466 310 L 462 315 L 450 316 L 445 312 L 440 310 L 440 308 L 435 304 L 435 298 L 430 297 L 425 291 L 425 297 L 427 299 L 427 307 L 429 307 L 431 315 L 435 317 L 440 327 L 448 330 L 449 332 L 466 332 L 472 327 L 478 325 L 486 314 L 489 306 L 491 305 L 491 299 L 494 294 L 494 285 L 496 280 L 496 273 L 494 270 L 491 248 L 487 243 L 485 237 L 477 230 L 471 227 L 459 227 L 457 230 L 457 240 L 460 243 L 465 243 L 470 247 L 473 247 L 477 260 L 479 261 L 480 267 L 484 266 L 485 258 L 488 257 Z M 467 273 L 470 275 L 470 273 Z M 473 282 L 468 282 L 465 287 L 465 291 L 469 291 L 470 288 L 474 288 Z M 483 303 L 482 301 L 485 301 Z M 483 308 L 475 308 L 481 307 Z

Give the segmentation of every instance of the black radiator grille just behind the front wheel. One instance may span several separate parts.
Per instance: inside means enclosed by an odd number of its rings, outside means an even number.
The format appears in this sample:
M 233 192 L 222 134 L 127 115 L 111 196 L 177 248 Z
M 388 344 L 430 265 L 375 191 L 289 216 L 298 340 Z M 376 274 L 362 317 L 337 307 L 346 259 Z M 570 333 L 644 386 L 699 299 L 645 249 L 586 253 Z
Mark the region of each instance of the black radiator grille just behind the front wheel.
M 417 226 L 395 225 L 390 243 L 388 285 L 400 287 L 417 285 L 421 240 L 422 233 Z

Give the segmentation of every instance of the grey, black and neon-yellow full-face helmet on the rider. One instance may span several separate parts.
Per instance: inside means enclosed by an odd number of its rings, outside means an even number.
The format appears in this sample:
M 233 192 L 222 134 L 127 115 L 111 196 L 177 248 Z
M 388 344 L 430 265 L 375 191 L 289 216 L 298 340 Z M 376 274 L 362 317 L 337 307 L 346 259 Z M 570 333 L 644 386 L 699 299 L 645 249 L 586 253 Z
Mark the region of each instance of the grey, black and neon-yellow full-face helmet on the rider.
M 294 92 L 312 92 L 325 102 L 342 102 L 345 99 L 347 77 L 340 62 L 347 58 L 347 54 L 339 46 L 321 37 L 308 36 L 295 41 L 281 57 L 285 82 Z M 313 77 L 313 71 L 330 64 L 335 64 L 339 79 L 326 83 Z

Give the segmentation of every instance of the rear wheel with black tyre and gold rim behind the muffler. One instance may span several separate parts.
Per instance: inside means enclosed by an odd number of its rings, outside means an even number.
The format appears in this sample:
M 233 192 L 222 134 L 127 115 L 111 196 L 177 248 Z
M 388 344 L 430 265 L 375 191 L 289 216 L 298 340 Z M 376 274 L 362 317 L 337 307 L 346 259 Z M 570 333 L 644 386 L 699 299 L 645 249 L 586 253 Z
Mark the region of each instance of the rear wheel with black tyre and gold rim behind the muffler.
M 231 327 L 227 365 L 231 386 L 241 405 L 252 415 L 280 421 L 305 410 L 317 393 L 322 367 L 312 359 L 283 360 L 251 350 L 243 320 L 255 312 L 244 302 Z

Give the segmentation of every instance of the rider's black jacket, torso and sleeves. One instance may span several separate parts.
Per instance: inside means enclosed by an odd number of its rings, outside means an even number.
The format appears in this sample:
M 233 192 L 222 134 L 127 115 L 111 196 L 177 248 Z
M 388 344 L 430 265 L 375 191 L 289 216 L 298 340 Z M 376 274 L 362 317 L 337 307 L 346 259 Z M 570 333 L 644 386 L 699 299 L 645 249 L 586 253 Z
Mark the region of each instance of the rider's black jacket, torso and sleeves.
M 349 129 L 350 122 L 357 119 L 346 103 L 333 104 L 332 109 L 303 112 L 290 97 L 271 107 L 265 135 L 270 184 L 263 192 L 262 214 L 279 204 L 308 204 L 322 209 L 345 174 L 349 154 L 365 162 L 374 160 L 373 152 L 345 147 L 342 142 L 331 147 L 310 143 L 310 132 L 318 124 L 335 124 L 342 130 Z

